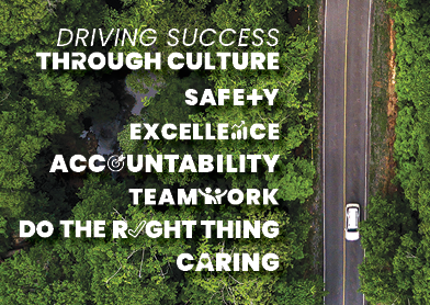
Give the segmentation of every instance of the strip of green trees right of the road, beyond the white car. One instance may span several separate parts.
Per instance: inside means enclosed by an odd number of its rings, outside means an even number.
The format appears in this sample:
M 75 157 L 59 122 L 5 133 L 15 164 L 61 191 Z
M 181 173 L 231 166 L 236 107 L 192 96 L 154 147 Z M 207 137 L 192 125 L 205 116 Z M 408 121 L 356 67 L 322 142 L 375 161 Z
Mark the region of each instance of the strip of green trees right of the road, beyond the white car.
M 392 1 L 398 117 L 396 196 L 374 197 L 361 227 L 362 291 L 374 304 L 430 303 L 430 2 Z

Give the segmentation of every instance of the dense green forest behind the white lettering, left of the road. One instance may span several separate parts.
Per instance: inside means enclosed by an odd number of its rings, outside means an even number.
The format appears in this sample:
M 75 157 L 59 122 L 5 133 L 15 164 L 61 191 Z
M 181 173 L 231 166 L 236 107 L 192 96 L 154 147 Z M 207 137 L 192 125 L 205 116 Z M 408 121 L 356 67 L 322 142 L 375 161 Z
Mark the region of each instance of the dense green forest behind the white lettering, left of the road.
M 310 159 L 312 124 L 317 115 L 309 93 L 308 72 L 316 55 L 315 29 L 309 21 L 288 24 L 287 13 L 312 1 L 199 0 L 122 2 L 91 0 L 2 1 L 0 3 L 0 263 L 1 304 L 320 304 L 322 283 L 313 275 L 307 250 L 310 215 L 306 200 L 313 194 L 316 170 Z M 307 14 L 306 14 L 307 15 Z M 158 52 L 237 52 L 224 47 L 167 47 L 167 30 L 199 27 L 278 29 L 280 43 L 270 47 L 248 46 L 240 52 L 279 52 L 280 70 L 227 69 L 191 72 L 163 66 L 138 71 L 127 81 L 135 90 L 159 83 L 159 93 L 147 101 L 140 116 L 129 122 L 276 123 L 279 140 L 163 142 L 131 140 L 129 128 L 120 134 L 126 154 L 280 155 L 274 173 L 257 174 L 126 174 L 49 173 L 55 154 L 89 155 L 78 144 L 84 118 L 112 116 L 124 104 L 114 74 L 103 71 L 41 70 L 36 52 L 150 52 L 137 44 L 92 47 L 57 47 L 59 29 L 151 27 L 159 33 Z M 154 77 L 152 77 L 154 76 Z M 188 106 L 189 88 L 279 89 L 274 106 Z M 106 111 L 109 110 L 109 111 Z M 99 117 L 100 118 L 100 117 Z M 280 206 L 219 205 L 201 203 L 186 207 L 133 206 L 129 188 L 279 189 Z M 275 239 L 113 239 L 31 238 L 25 249 L 16 247 L 18 222 L 48 219 L 126 218 L 129 226 L 142 219 L 273 219 L 280 224 Z M 59 227 L 57 227 L 59 230 Z M 200 236 L 201 233 L 195 233 Z M 176 258 L 182 252 L 274 252 L 275 272 L 181 272 Z

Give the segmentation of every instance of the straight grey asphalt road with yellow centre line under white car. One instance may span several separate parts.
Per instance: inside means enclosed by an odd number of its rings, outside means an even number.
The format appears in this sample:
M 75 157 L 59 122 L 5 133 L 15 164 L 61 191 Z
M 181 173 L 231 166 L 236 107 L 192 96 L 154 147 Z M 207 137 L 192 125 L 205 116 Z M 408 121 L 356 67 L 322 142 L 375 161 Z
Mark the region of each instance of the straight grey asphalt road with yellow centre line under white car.
M 371 0 L 326 0 L 324 42 L 324 262 L 328 305 L 364 304 L 360 241 L 344 239 L 344 205 L 367 202 Z

